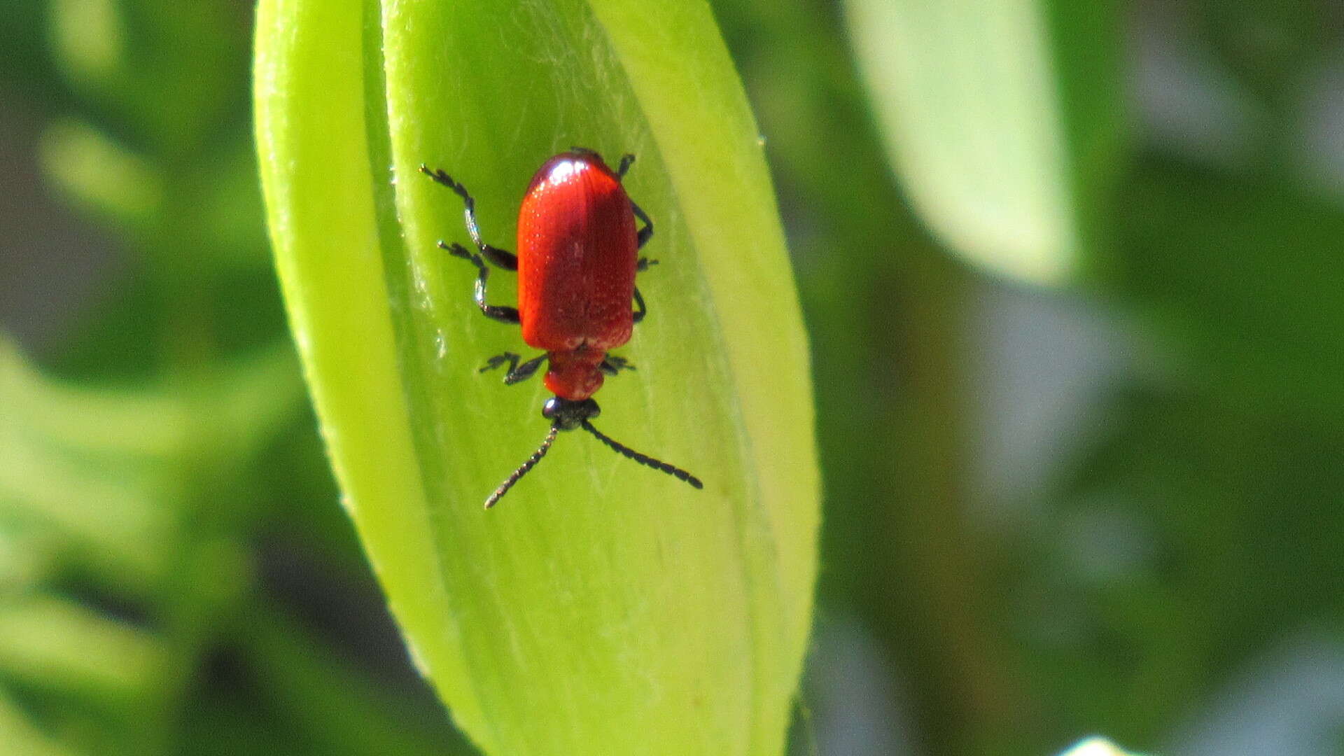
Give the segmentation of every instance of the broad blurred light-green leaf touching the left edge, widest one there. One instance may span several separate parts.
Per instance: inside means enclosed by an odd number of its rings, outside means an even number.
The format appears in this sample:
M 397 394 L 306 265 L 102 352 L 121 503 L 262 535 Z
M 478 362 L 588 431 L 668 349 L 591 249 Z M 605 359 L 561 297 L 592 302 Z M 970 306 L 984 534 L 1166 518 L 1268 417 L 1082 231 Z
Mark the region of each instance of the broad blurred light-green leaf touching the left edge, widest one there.
M 0 521 L 51 529 L 67 558 L 141 592 L 181 535 L 180 468 L 207 461 L 202 445 L 237 464 L 300 398 L 288 344 L 184 391 L 132 391 L 50 379 L 0 339 Z

